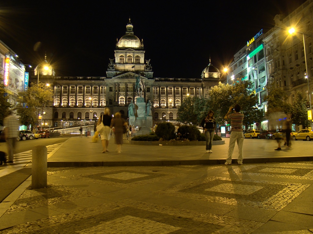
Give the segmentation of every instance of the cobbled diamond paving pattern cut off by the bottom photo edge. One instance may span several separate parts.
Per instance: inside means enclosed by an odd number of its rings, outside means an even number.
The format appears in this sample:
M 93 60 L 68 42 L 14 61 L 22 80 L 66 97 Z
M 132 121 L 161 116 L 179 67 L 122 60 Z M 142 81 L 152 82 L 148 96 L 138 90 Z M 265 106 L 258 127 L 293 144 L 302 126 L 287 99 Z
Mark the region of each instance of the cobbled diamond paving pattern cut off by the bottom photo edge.
M 7 234 L 252 233 L 263 224 L 126 199 L 24 223 L 4 231 Z

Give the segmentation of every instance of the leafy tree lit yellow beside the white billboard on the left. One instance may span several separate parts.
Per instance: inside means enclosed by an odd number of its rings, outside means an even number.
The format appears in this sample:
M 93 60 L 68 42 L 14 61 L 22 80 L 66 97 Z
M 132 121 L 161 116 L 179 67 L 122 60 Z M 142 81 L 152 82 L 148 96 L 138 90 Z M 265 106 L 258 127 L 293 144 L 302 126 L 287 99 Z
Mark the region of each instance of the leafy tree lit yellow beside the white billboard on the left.
M 36 125 L 38 122 L 39 110 L 53 101 L 53 91 L 44 83 L 34 83 L 26 91 L 18 93 L 18 104 L 16 112 L 20 116 L 20 121 L 24 125 Z

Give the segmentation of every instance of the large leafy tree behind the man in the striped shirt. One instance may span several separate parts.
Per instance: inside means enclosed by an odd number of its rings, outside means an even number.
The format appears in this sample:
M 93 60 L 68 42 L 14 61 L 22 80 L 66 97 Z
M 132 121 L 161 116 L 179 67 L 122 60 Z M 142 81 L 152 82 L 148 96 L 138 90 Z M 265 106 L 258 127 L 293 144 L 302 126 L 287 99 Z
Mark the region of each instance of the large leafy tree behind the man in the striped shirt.
M 259 122 L 263 118 L 263 113 L 259 110 L 258 97 L 249 90 L 251 83 L 247 80 L 238 80 L 233 85 L 225 85 L 219 82 L 209 91 L 208 103 L 214 111 L 216 122 L 223 124 L 224 116 L 230 106 L 239 104 L 241 112 L 244 114 L 243 124 L 250 125 Z

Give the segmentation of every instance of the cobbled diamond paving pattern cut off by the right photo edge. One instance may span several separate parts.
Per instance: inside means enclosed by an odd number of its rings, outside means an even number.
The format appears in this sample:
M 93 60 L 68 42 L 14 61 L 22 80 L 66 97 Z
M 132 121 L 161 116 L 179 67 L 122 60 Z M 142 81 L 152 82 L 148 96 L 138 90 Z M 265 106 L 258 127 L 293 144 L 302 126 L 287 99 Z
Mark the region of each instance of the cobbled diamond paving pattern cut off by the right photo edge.
M 224 174 L 229 173 L 233 173 L 236 175 L 244 174 L 249 176 L 275 176 L 280 178 L 313 180 L 313 167 L 249 165 L 242 166 L 240 168 L 233 168 L 232 171 L 224 172 Z

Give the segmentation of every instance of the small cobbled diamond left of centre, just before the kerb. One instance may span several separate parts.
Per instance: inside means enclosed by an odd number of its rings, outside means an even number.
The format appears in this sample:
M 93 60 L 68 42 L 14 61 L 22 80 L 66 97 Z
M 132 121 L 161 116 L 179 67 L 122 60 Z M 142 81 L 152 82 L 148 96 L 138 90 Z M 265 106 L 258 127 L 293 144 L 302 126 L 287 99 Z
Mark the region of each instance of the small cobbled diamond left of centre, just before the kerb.
M 160 170 L 148 171 L 143 169 L 123 170 L 120 168 L 105 170 L 105 172 L 82 173 L 79 175 L 62 176 L 74 180 L 83 180 L 90 183 L 113 185 L 122 188 L 131 188 L 135 185 L 154 183 L 159 180 L 182 176 L 183 174 L 169 173 Z

